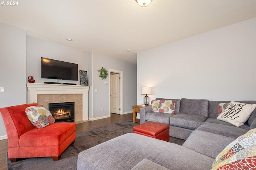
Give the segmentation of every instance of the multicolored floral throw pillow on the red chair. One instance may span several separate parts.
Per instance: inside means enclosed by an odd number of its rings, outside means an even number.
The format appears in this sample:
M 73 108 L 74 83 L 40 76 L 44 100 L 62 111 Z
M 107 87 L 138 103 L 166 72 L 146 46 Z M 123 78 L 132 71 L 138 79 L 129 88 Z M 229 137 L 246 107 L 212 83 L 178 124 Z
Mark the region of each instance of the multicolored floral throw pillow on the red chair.
M 25 109 L 28 119 L 38 129 L 55 122 L 52 114 L 43 105 L 30 106 Z

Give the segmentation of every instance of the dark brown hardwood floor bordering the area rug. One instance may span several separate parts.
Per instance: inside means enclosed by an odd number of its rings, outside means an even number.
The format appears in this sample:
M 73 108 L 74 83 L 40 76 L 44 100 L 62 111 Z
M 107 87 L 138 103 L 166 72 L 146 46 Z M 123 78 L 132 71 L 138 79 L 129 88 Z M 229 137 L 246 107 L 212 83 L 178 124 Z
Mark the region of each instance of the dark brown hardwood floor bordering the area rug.
M 111 113 L 111 117 L 108 117 L 105 119 L 78 123 L 76 125 L 76 133 L 90 131 L 92 129 L 96 129 L 99 127 L 111 125 L 111 124 L 118 123 L 121 121 L 126 121 L 126 120 L 132 120 L 132 113 L 128 113 L 124 115 Z M 176 143 L 178 145 L 182 145 L 184 143 L 184 140 L 170 137 L 170 142 Z M 7 150 L 8 150 L 7 139 L 0 140 L 0 170 L 7 170 L 7 163 L 6 163 Z

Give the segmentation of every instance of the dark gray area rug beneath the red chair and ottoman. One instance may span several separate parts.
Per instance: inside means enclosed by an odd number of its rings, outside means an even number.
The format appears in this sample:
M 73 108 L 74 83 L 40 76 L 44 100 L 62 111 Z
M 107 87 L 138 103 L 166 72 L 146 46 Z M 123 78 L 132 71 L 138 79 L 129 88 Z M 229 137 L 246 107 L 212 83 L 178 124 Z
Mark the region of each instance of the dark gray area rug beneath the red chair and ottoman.
M 53 161 L 52 157 L 44 157 L 10 162 L 7 159 L 8 170 L 76 170 L 77 157 L 80 152 L 120 135 L 131 133 L 136 125 L 139 123 L 132 123 L 132 120 L 128 120 L 78 133 L 75 143 L 62 153 L 60 160 Z M 182 145 L 184 140 L 170 137 L 170 142 Z

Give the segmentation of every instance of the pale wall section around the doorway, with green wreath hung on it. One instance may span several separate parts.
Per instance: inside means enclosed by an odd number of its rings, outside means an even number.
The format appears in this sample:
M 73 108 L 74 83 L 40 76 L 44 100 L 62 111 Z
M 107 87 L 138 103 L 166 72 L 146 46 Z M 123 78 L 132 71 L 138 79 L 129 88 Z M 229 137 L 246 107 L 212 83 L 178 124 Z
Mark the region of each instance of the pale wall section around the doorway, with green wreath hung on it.
M 106 68 L 109 76 L 105 80 L 99 78 L 100 68 Z M 132 106 L 136 105 L 136 64 L 128 63 L 122 60 L 114 59 L 93 52 L 93 113 L 89 113 L 91 119 L 96 117 L 107 117 L 109 115 L 109 86 L 104 82 L 109 82 L 109 69 L 123 72 L 123 112 L 132 112 Z M 95 89 L 98 92 L 95 92 Z M 101 108 L 104 110 L 101 111 Z

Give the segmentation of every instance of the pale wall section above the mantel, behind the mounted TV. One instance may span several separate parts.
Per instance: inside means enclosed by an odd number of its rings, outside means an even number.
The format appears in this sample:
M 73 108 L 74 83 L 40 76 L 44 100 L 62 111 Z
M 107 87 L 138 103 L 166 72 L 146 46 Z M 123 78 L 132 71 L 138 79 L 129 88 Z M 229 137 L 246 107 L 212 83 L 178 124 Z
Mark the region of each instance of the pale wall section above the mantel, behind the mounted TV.
M 72 43 L 72 42 L 70 42 Z M 78 64 L 78 81 L 59 80 L 64 83 L 76 83 L 80 85 L 79 70 L 88 72 L 89 52 L 80 51 L 65 45 L 27 36 L 27 74 L 34 76 L 36 83 L 57 82 L 55 79 L 41 78 L 41 57 Z M 27 80 L 28 82 L 28 80 Z

